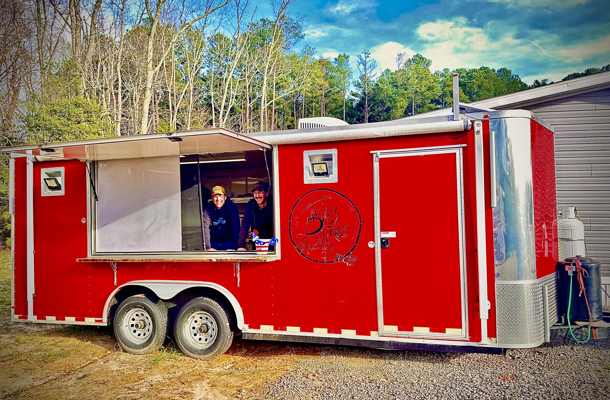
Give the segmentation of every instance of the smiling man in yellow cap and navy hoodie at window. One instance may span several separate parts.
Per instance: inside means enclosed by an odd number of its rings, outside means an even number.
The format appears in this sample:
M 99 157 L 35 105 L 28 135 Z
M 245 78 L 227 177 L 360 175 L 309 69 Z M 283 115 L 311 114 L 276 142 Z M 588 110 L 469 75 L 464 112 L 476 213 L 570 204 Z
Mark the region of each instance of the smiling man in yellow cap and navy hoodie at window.
M 239 211 L 226 196 L 224 187 L 212 187 L 212 202 L 203 209 L 203 235 L 206 250 L 237 250 Z

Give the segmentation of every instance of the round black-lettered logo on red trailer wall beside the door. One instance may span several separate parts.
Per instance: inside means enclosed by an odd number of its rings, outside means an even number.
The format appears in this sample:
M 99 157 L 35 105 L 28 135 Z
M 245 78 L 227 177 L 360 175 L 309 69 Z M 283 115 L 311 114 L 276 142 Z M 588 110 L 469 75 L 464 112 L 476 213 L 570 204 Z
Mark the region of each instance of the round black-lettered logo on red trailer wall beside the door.
M 353 265 L 362 217 L 354 203 L 331 189 L 314 189 L 290 211 L 289 235 L 296 250 L 317 263 Z

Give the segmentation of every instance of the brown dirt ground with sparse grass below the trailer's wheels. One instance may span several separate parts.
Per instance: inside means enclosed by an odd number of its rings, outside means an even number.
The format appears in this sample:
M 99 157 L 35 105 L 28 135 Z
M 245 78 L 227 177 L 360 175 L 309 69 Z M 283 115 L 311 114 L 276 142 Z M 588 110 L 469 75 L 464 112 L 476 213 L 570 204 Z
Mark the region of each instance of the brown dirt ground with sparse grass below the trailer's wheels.
M 60 336 L 1 335 L 0 398 L 259 398 L 265 385 L 292 371 L 307 347 L 245 343 L 207 362 L 171 346 L 149 355 L 109 351 L 105 343 Z

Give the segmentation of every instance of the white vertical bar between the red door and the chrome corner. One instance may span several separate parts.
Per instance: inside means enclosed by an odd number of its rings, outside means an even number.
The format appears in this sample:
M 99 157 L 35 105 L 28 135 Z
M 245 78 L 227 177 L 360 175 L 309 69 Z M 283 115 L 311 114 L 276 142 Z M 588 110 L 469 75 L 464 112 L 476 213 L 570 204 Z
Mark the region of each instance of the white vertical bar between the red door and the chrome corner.
M 487 319 L 490 303 L 487 299 L 487 239 L 485 224 L 485 169 L 483 158 L 483 123 L 475 121 L 475 174 L 476 174 L 476 248 L 479 275 L 479 315 L 481 317 L 481 343 L 489 345 Z

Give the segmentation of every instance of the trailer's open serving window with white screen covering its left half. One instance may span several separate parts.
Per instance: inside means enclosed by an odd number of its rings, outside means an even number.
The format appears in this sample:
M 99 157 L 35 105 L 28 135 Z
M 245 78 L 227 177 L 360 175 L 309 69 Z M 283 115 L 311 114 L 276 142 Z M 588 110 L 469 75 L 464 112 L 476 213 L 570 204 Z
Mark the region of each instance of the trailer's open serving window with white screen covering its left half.
M 254 185 L 268 184 L 273 176 L 269 150 L 103 160 L 94 164 L 97 200 L 91 196 L 93 255 L 228 253 L 205 251 L 204 209 L 206 205 L 214 206 L 213 187 L 224 188 L 227 198 L 237 206 L 241 225 L 246 205 L 255 201 Z M 265 207 L 274 216 L 273 185 L 269 187 Z M 249 235 L 244 247 L 246 252 L 240 254 L 255 250 Z

